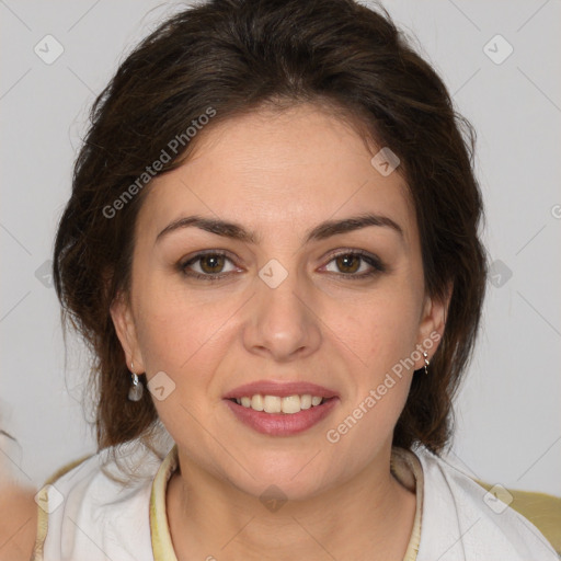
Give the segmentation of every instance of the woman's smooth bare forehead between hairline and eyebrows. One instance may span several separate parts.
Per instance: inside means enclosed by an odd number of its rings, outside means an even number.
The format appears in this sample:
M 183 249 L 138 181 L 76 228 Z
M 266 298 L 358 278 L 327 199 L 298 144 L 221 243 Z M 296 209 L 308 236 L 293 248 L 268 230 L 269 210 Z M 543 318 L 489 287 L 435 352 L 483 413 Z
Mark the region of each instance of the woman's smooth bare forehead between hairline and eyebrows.
M 365 211 L 390 216 L 415 236 L 409 190 L 383 175 L 348 122 L 313 105 L 257 111 L 198 133 L 180 168 L 152 180 L 138 221 L 156 238 L 186 214 L 228 219 L 276 234 Z

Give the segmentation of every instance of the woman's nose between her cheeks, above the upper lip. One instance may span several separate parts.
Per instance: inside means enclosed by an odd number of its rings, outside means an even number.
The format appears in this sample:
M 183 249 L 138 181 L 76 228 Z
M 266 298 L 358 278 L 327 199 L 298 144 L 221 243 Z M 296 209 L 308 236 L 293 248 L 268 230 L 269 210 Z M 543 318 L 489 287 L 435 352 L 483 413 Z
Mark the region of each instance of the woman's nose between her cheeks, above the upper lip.
M 316 352 L 321 343 L 321 321 L 312 293 L 298 275 L 289 273 L 274 288 L 259 277 L 255 284 L 243 333 L 247 350 L 277 362 L 301 359 Z

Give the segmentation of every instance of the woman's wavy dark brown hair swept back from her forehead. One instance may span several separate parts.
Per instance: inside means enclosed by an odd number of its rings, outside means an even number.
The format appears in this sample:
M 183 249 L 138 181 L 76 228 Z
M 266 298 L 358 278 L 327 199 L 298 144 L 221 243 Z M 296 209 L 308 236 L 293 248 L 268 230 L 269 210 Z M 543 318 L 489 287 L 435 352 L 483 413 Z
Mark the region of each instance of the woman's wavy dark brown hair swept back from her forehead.
M 471 126 L 381 8 L 353 0 L 211 0 L 164 21 L 94 102 L 56 236 L 64 320 L 94 356 L 100 449 L 145 442 L 159 423 L 148 391 L 139 402 L 127 399 L 130 373 L 110 314 L 129 287 L 135 222 L 149 183 L 118 211 L 106 209 L 208 107 L 216 112 L 213 127 L 265 104 L 282 111 L 298 103 L 331 107 L 401 160 L 426 291 L 445 298 L 454 289 L 430 375 L 413 377 L 393 444 L 421 443 L 439 454 L 449 442 L 453 397 L 474 344 L 486 274 Z M 158 173 L 187 157 L 188 149 L 178 151 Z

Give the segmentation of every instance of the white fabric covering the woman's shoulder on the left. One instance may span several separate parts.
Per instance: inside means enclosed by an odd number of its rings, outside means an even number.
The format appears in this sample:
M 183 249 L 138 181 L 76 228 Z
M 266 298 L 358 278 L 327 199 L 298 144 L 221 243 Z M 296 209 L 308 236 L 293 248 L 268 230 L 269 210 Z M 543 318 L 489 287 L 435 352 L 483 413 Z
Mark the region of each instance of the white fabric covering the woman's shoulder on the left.
M 59 470 L 37 493 L 33 560 L 151 560 L 149 501 L 161 461 L 137 443 Z

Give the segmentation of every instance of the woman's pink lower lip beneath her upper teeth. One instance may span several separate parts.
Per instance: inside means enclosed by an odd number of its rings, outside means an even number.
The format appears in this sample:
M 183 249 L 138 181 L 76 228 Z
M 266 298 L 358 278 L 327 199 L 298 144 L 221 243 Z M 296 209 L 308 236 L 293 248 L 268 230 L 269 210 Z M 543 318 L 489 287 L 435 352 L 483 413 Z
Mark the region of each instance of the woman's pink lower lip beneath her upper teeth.
M 298 413 L 265 413 L 239 405 L 229 399 L 225 400 L 230 411 L 251 428 L 270 436 L 290 436 L 302 433 L 328 416 L 339 399 L 331 398 L 321 405 L 304 409 Z

